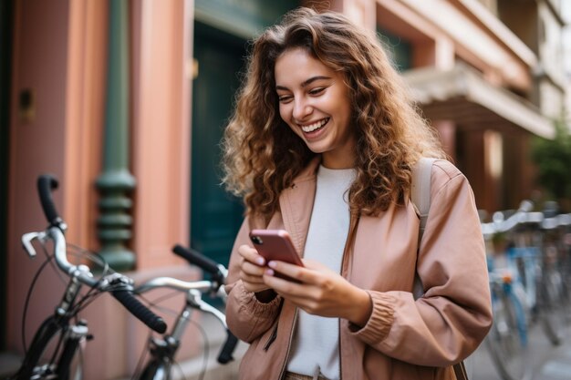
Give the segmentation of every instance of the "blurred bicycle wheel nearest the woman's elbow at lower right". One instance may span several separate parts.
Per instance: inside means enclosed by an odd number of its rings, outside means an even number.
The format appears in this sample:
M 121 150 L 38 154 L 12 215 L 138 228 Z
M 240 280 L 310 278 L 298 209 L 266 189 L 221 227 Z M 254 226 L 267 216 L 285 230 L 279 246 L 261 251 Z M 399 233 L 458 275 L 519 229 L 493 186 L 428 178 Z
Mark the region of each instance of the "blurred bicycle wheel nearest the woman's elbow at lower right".
M 501 287 L 501 286 L 498 286 Z M 493 292 L 493 325 L 485 343 L 499 375 L 521 380 L 528 372 L 527 326 L 513 293 Z

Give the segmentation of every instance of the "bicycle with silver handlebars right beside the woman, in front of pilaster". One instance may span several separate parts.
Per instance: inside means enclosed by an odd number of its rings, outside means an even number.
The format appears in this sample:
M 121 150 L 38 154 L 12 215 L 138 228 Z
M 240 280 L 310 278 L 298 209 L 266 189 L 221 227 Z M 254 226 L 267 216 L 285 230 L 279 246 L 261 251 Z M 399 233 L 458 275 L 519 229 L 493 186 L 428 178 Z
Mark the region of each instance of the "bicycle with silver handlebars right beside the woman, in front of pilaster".
M 203 256 L 200 252 L 184 248 L 182 245 L 174 246 L 172 251 L 190 264 L 197 265 L 203 271 L 209 272 L 211 280 L 183 282 L 171 277 L 157 277 L 135 288 L 134 291 L 138 294 L 161 288 L 173 289 L 177 292 L 185 293 L 186 301 L 182 311 L 175 319 L 171 332 L 162 334 L 161 337 L 151 336 L 148 339 L 145 353 L 150 354 L 151 358 L 142 369 L 135 371 L 135 375 L 132 377 L 133 380 L 170 380 L 174 377 L 173 365 L 176 363 L 175 355 L 180 347 L 182 334 L 184 334 L 186 327 L 191 322 L 193 310 L 212 314 L 226 329 L 227 337 L 218 355 L 218 363 L 225 365 L 234 360 L 232 354 L 238 343 L 237 338 L 228 330 L 224 314 L 210 303 L 202 300 L 202 294 L 210 294 L 213 297 L 225 300 L 226 293 L 223 290 L 223 284 L 227 275 L 226 268 L 222 264 L 213 262 Z M 204 372 L 205 368 L 202 370 L 201 378 Z

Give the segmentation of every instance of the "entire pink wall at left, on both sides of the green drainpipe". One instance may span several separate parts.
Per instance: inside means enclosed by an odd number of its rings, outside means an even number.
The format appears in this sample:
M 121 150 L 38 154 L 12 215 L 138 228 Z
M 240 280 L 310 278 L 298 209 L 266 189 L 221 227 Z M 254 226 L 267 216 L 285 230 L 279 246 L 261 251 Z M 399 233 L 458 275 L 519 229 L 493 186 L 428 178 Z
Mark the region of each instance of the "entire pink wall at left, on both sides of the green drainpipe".
M 10 180 L 7 259 L 7 345 L 22 352 L 20 325 L 24 299 L 42 258 L 31 261 L 20 236 L 46 227 L 36 196 L 36 176 L 52 172 L 60 180 L 55 194 L 69 225 L 67 239 L 97 250 L 100 172 L 107 67 L 107 1 L 21 0 L 15 2 L 13 118 L 10 124 Z M 190 175 L 190 77 L 192 0 L 131 2 L 132 172 L 134 238 L 142 280 L 153 275 L 198 277 L 173 259 L 175 242 L 188 242 Z M 36 118 L 18 118 L 21 90 L 36 95 Z M 144 271 L 141 271 L 144 269 Z M 52 313 L 64 283 L 47 269 L 33 293 L 26 319 L 26 341 Z M 179 301 L 172 301 L 178 312 Z M 177 305 L 179 304 L 179 305 Z M 85 353 L 86 379 L 129 375 L 148 329 L 134 321 L 112 297 L 100 297 L 81 314 L 96 339 Z M 182 356 L 196 354 L 189 338 Z

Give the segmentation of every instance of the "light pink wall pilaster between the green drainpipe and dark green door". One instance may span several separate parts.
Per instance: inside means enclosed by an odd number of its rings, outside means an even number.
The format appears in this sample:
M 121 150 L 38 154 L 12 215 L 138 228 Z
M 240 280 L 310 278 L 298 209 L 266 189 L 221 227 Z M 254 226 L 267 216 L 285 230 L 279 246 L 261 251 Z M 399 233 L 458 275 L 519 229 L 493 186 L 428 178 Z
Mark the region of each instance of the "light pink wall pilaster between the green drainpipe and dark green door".
M 133 249 L 138 269 L 181 263 L 190 203 L 191 1 L 133 4 Z

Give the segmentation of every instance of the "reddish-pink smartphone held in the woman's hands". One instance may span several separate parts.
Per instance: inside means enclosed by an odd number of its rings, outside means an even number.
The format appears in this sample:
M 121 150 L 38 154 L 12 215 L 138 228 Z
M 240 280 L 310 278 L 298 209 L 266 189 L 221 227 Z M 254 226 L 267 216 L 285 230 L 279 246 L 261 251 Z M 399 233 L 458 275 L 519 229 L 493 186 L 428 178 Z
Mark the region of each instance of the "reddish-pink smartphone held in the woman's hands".
M 266 262 L 280 261 L 304 266 L 289 233 L 285 230 L 252 230 L 250 231 L 250 240 L 254 243 L 254 248 L 257 252 L 265 258 Z M 279 272 L 275 272 L 275 276 L 288 281 L 298 282 Z

